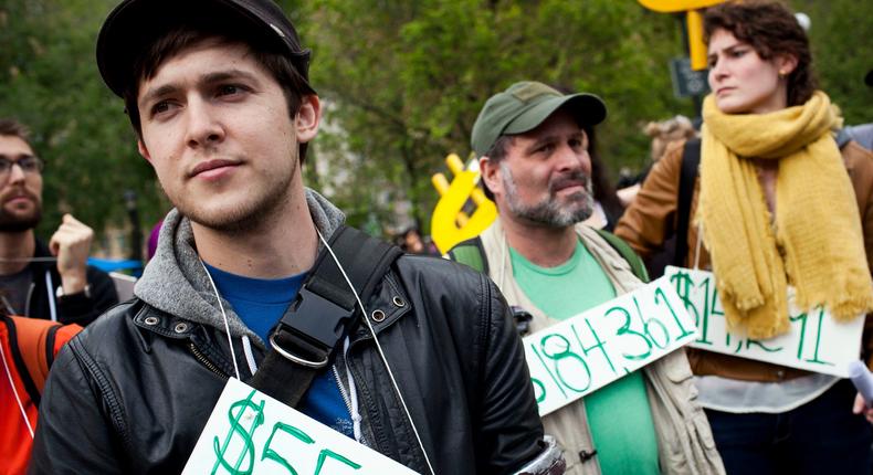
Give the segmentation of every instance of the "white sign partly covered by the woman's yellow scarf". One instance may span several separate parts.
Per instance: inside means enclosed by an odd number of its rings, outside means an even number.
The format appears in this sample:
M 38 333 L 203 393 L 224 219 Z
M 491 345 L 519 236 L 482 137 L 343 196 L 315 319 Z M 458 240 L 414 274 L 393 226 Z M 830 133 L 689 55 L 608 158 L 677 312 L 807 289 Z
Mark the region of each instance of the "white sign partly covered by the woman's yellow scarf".
M 711 272 L 667 266 L 664 277 L 685 303 L 697 321 L 700 337 L 691 346 L 759 361 L 800 368 L 825 374 L 849 377 L 849 363 L 861 353 L 864 318 L 848 323 L 834 320 L 821 306 L 801 312 L 789 292 L 791 329 L 766 340 L 747 338 L 740 331 L 727 331 L 722 302 Z

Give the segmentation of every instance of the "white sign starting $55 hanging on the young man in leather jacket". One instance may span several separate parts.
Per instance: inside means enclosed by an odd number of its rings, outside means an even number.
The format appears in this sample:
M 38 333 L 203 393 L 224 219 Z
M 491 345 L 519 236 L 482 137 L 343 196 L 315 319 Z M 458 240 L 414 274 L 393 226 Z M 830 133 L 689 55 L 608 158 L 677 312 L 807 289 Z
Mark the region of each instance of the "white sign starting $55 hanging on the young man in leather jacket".
M 182 474 L 416 474 L 231 378 Z

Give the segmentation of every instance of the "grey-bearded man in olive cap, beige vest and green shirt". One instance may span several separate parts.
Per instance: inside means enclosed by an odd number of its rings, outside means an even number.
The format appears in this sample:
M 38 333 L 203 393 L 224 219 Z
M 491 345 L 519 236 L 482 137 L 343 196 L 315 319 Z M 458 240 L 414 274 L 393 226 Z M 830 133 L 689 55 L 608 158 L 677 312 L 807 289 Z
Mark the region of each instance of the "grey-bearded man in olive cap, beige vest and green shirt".
M 492 96 L 473 126 L 498 218 L 449 256 L 486 272 L 516 315 L 533 316 L 532 331 L 648 278 L 625 243 L 581 224 L 595 207 L 590 135 L 606 115 L 595 95 L 520 82 Z M 544 416 L 566 448 L 567 473 L 724 473 L 691 377 L 674 351 Z

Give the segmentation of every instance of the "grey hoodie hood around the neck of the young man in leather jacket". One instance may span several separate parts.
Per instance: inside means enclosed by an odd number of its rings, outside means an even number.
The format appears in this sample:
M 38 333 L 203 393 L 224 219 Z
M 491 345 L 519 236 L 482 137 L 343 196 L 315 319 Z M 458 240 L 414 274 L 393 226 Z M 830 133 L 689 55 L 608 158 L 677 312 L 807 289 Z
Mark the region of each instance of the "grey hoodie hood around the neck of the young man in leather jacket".
M 305 190 L 306 204 L 315 226 L 326 240 L 345 222 L 338 208 L 317 192 Z M 322 243 L 318 243 L 322 250 Z M 206 270 L 194 247 L 191 222 L 177 209 L 167 214 L 160 229 L 155 257 L 149 261 L 134 295 L 148 305 L 186 320 L 224 329 L 221 309 Z M 248 335 L 261 348 L 263 341 L 245 325 L 222 298 L 228 326 L 234 337 Z

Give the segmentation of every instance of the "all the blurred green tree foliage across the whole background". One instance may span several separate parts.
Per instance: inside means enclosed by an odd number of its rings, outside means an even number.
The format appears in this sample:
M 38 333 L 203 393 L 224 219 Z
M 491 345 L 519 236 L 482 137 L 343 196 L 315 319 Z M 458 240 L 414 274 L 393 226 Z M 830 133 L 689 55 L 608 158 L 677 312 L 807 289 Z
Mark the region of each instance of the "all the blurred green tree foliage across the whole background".
M 138 193 L 145 228 L 167 209 L 136 152 L 122 102 L 94 62 L 101 22 L 117 0 L 0 0 L 0 116 L 34 131 L 48 161 L 42 233 L 62 211 L 101 230 L 123 224 L 122 194 Z M 683 55 L 679 17 L 633 0 L 280 1 L 312 48 L 326 123 L 311 148 L 307 183 L 349 222 L 389 226 L 409 213 L 428 228 L 449 152 L 466 157 L 485 99 L 522 80 L 601 96 L 601 156 L 642 168 L 642 123 L 693 116 L 673 97 L 667 63 Z M 870 122 L 862 78 L 873 57 L 873 3 L 790 0 L 812 19 L 823 88 L 850 124 Z M 614 173 L 613 173 L 614 175 Z M 411 203 L 411 209 L 401 208 Z

